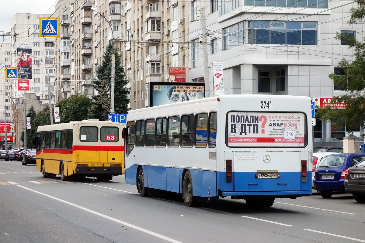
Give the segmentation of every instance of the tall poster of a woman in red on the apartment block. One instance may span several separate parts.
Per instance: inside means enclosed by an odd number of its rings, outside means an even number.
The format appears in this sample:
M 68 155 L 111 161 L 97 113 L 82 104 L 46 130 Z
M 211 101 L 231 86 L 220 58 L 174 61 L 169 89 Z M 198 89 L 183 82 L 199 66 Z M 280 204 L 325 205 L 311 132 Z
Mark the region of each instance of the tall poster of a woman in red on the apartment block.
M 32 44 L 18 43 L 18 48 L 16 50 L 16 53 L 19 56 L 19 79 L 32 79 L 32 58 L 27 55 L 32 54 Z

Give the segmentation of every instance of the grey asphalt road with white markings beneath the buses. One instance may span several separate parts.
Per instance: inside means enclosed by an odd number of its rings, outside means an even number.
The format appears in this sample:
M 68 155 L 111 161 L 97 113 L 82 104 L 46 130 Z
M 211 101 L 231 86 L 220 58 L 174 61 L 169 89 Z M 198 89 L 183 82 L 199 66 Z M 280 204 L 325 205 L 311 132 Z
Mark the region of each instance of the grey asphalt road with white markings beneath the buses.
M 0 243 L 365 243 L 364 208 L 349 194 L 315 192 L 264 209 L 228 198 L 188 208 L 181 196 L 139 196 L 124 175 L 61 181 L 0 161 Z

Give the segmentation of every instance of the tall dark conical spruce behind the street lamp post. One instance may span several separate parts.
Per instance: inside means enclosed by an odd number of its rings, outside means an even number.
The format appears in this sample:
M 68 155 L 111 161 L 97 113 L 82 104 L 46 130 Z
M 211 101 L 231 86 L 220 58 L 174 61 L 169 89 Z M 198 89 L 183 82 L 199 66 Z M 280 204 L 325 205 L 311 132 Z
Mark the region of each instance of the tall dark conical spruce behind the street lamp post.
M 124 68 L 122 66 L 120 53 L 115 49 L 115 95 L 114 95 L 114 112 L 126 113 L 128 110 L 130 93 L 126 85 L 128 80 L 126 79 Z M 93 95 L 93 104 L 88 110 L 89 118 L 99 118 L 100 120 L 107 120 L 108 113 L 110 113 L 110 81 L 111 81 L 111 57 L 112 57 L 112 44 L 109 43 L 105 49 L 103 55 L 103 61 L 96 69 L 97 79 L 99 81 L 94 82 L 94 88 L 97 91 L 97 95 Z M 109 82 L 103 82 L 109 81 Z

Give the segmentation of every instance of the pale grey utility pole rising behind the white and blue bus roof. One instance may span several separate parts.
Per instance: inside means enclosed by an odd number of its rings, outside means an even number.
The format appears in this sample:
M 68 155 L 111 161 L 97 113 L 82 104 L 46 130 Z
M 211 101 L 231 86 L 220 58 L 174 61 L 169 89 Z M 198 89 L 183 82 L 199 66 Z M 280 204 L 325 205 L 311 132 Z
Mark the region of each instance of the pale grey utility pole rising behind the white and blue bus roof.
M 207 16 L 205 16 L 205 3 L 200 1 L 200 23 L 201 23 L 201 35 L 202 35 L 202 48 L 203 48 L 203 65 L 204 65 L 204 87 L 205 97 L 210 97 L 210 82 L 209 82 L 209 63 L 208 63 L 208 45 L 207 45 L 207 24 L 205 22 Z

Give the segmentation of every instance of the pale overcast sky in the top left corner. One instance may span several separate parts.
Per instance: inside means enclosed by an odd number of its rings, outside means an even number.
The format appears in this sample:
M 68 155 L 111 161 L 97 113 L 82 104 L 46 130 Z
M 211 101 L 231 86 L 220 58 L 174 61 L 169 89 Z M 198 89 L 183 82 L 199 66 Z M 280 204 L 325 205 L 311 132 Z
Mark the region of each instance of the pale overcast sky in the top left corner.
M 54 13 L 54 4 L 57 0 L 0 0 L 0 34 L 10 31 L 10 21 L 15 13 Z M 1 38 L 2 36 L 0 36 Z M 3 42 L 0 39 L 0 43 Z M 6 40 L 5 42 L 10 42 Z

